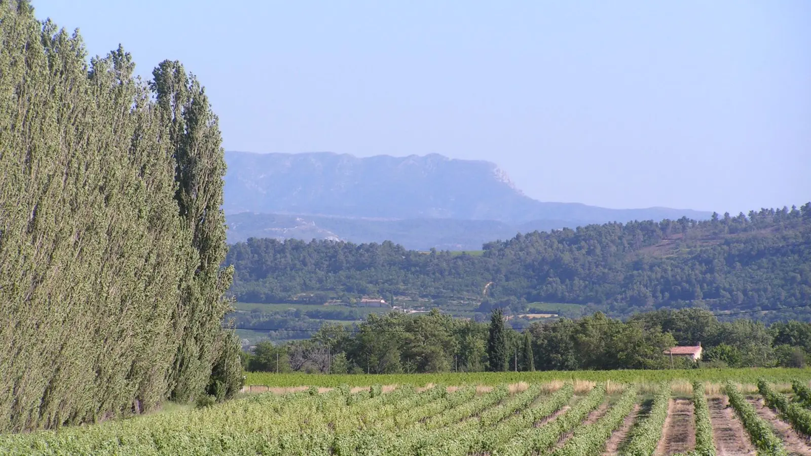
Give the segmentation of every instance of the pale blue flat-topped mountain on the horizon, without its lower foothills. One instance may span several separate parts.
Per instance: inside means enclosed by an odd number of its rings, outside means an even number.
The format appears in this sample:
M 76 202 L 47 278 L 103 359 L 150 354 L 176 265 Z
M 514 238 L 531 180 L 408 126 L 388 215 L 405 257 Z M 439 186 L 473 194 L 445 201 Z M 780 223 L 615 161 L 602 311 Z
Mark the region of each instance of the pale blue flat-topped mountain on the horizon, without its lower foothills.
M 424 157 L 358 158 L 337 153 L 226 152 L 225 213 L 384 219 L 457 219 L 511 225 L 538 220 L 599 222 L 706 219 L 689 209 L 605 209 L 524 195 L 489 161 Z

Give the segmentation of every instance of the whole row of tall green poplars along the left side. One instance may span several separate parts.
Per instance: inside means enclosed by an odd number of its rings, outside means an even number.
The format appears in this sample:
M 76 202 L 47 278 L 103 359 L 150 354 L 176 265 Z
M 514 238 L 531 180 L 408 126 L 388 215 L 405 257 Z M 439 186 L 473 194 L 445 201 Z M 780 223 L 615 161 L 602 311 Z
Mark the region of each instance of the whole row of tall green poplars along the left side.
M 165 61 L 0 0 L 0 432 L 225 398 L 242 372 L 221 329 L 232 270 L 217 117 Z

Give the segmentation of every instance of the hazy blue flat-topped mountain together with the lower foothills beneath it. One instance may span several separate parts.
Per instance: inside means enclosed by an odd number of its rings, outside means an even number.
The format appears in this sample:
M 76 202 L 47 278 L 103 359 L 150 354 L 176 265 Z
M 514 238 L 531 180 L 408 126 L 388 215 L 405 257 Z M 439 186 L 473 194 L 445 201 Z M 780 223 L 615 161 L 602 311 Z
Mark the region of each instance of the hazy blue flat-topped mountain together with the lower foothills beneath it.
M 519 232 L 710 217 L 690 209 L 541 202 L 524 195 L 495 163 L 438 154 L 226 152 L 225 161 L 230 243 L 250 237 L 392 240 L 414 249 L 467 250 Z

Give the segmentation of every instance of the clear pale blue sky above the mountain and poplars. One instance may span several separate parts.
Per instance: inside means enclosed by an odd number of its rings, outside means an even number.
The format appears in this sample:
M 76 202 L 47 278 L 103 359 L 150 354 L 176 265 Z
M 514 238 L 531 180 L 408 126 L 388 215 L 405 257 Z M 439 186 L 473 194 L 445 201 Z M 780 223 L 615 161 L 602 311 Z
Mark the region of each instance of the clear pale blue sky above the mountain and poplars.
M 811 2 L 41 0 L 200 77 L 228 150 L 495 161 L 527 195 L 811 200 Z

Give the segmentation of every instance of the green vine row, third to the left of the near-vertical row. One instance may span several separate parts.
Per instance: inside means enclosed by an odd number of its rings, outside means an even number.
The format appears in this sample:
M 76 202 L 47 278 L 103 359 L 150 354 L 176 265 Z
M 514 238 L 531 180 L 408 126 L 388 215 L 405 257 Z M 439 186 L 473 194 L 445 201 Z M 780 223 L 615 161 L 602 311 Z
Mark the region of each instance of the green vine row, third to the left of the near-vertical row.
M 547 450 L 554 445 L 565 432 L 577 427 L 605 399 L 605 384 L 594 387 L 586 397 L 577 402 L 569 411 L 539 428 L 529 428 L 518 432 L 515 437 L 496 449 L 493 454 L 499 456 L 524 456 Z

